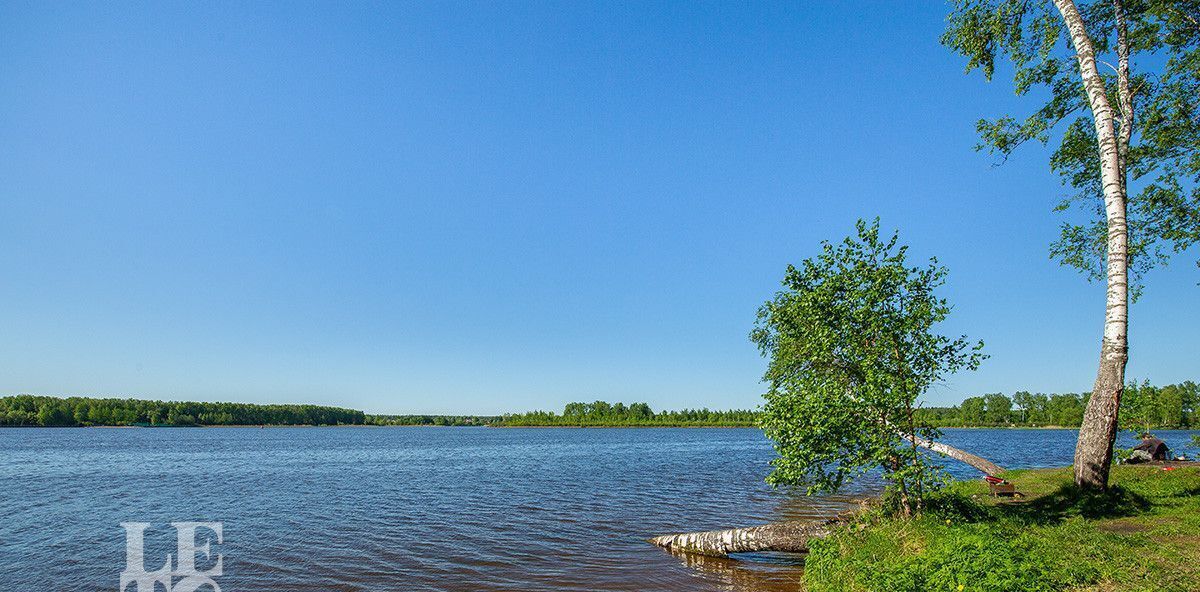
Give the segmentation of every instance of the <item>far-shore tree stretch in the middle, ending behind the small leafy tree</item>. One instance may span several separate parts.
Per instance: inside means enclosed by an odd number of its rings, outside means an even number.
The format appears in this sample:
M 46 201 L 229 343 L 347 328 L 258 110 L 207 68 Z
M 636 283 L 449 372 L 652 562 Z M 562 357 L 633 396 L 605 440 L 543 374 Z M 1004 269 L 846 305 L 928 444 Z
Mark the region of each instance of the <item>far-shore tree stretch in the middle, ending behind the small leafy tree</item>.
M 551 411 L 532 411 L 528 413 L 508 414 L 497 425 L 503 426 L 752 426 L 758 414 L 748 409 L 712 411 L 682 409 L 655 412 L 647 403 L 623 402 L 610 403 L 595 401 L 590 403 L 566 403 L 563 413 Z

